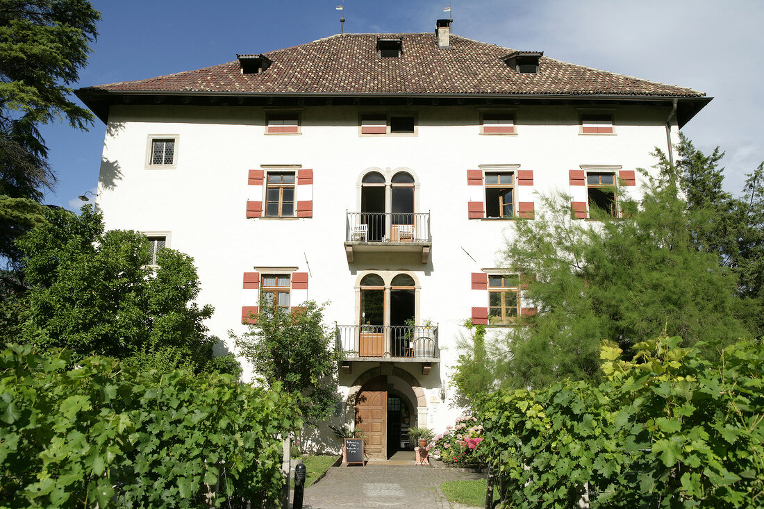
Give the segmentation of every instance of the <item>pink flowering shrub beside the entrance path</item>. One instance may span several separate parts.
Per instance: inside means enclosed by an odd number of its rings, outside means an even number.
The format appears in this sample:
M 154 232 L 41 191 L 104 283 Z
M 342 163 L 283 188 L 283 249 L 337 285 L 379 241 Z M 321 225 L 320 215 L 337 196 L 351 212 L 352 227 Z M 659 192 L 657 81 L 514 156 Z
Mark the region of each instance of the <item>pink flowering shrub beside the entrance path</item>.
M 483 439 L 483 425 L 476 417 L 459 417 L 454 426 L 435 436 L 427 449 L 446 465 L 476 467 L 485 463 L 480 448 Z

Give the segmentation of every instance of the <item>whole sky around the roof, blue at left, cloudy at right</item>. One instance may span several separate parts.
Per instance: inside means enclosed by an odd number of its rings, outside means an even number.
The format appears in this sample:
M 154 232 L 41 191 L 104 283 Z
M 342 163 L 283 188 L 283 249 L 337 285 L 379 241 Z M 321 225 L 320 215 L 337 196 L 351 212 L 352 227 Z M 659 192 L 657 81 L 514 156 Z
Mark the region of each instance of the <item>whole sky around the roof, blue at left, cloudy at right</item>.
M 102 12 L 89 65 L 73 88 L 199 69 L 339 32 L 342 0 L 94 0 Z M 345 32 L 429 32 L 448 0 L 345 1 Z M 714 97 L 684 132 L 727 151 L 727 189 L 764 160 L 760 0 L 454 0 L 455 34 Z M 75 100 L 78 100 L 75 98 Z M 47 203 L 79 208 L 95 190 L 105 125 L 42 129 L 59 182 Z

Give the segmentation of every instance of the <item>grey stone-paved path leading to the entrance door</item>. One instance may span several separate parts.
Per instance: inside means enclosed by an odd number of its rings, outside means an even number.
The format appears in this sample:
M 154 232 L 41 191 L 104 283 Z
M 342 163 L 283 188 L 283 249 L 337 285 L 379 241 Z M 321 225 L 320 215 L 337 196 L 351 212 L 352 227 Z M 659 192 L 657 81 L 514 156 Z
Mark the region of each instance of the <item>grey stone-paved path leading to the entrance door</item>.
M 444 481 L 484 477 L 450 468 L 343 465 L 329 468 L 324 478 L 306 488 L 303 508 L 454 509 L 439 485 Z

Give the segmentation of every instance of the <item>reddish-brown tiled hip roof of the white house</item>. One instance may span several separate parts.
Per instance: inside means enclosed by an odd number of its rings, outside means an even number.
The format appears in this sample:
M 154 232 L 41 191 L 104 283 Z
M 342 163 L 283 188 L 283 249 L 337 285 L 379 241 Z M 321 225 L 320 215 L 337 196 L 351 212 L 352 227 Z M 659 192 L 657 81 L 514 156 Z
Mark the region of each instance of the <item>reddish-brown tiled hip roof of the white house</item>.
M 403 54 L 377 57 L 377 38 L 400 38 Z M 451 35 L 439 49 L 435 34 L 343 34 L 270 51 L 264 73 L 242 74 L 238 60 L 204 69 L 83 89 L 83 92 L 254 92 L 287 94 L 510 94 L 677 96 L 704 92 L 665 85 L 549 57 L 538 74 L 517 73 L 501 57 L 513 51 Z

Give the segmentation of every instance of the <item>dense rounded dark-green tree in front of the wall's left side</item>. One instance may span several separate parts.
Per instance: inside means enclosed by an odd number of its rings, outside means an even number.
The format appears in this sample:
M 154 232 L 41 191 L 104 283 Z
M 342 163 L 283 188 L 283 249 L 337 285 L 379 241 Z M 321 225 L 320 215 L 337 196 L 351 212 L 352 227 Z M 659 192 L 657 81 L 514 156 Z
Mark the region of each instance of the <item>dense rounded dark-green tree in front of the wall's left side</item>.
M 44 213 L 47 222 L 18 241 L 30 285 L 21 342 L 128 358 L 143 368 L 220 368 L 212 361 L 217 338 L 203 323 L 212 306 L 195 303 L 193 258 L 162 249 L 151 267 L 144 235 L 104 232 L 101 215 L 89 206 L 81 216 Z

